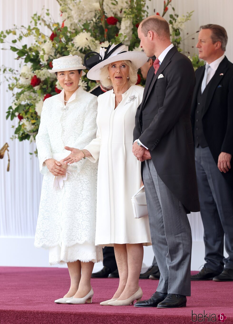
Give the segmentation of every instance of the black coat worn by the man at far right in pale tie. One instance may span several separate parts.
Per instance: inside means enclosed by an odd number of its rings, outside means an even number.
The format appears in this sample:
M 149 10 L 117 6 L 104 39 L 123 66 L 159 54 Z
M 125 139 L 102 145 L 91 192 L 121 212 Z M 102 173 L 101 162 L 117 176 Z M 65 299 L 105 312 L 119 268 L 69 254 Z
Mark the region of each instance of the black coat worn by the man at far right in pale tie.
M 196 85 L 192 102 L 192 127 L 197 107 L 197 93 L 205 73 L 205 65 L 196 72 Z M 233 155 L 233 64 L 225 56 L 209 82 L 208 93 L 202 114 L 205 140 L 217 164 L 221 152 Z M 219 171 L 220 172 L 220 171 Z M 227 183 L 233 188 L 233 158 L 231 169 L 222 172 Z

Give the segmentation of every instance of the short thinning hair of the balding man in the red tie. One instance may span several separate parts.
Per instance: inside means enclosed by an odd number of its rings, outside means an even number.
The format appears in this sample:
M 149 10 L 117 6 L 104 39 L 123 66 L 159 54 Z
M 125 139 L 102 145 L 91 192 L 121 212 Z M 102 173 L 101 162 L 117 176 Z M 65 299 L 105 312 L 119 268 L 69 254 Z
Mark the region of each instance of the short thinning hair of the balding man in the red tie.
M 170 39 L 169 24 L 165 19 L 159 19 L 157 17 L 147 17 L 140 22 L 141 31 L 144 36 L 147 36 L 148 31 L 154 31 L 159 38 Z

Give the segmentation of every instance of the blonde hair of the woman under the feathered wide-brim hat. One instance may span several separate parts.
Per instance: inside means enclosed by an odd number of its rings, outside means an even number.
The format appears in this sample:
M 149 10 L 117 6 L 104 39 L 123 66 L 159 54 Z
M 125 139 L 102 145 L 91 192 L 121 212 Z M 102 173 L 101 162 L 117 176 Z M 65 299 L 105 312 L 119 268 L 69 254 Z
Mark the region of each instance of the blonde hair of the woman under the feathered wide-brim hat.
M 128 75 L 129 78 L 127 79 L 129 86 L 134 86 L 138 80 L 138 69 L 136 69 L 134 64 L 129 60 L 122 60 L 122 63 L 126 64 L 129 68 L 129 75 Z M 105 88 L 112 88 L 113 87 L 112 81 L 111 79 L 108 78 L 109 77 L 108 65 L 105 65 L 100 69 L 100 83 Z

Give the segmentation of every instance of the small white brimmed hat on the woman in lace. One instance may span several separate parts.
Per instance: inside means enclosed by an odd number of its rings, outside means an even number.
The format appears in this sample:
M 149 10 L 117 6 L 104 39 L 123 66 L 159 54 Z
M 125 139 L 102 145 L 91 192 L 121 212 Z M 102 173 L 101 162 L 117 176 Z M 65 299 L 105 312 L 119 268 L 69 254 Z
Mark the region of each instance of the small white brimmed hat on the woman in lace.
M 85 70 L 86 67 L 82 63 L 82 58 L 78 55 L 61 56 L 52 61 L 53 68 L 49 70 L 50 73 L 72 70 Z M 85 72 L 83 72 L 85 75 Z

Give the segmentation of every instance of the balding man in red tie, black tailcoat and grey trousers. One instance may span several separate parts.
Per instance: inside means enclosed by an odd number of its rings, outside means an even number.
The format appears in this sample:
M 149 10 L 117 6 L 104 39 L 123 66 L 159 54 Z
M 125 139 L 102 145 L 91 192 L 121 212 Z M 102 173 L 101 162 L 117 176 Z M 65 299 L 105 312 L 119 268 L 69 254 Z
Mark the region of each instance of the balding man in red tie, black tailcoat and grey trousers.
M 135 118 L 133 153 L 142 161 L 153 250 L 161 273 L 157 291 L 136 307 L 184 307 L 191 295 L 192 235 L 187 218 L 199 211 L 190 120 L 195 85 L 191 61 L 171 44 L 160 16 L 144 19 L 140 45 L 155 55 Z M 145 161 L 144 161 L 145 160 Z

